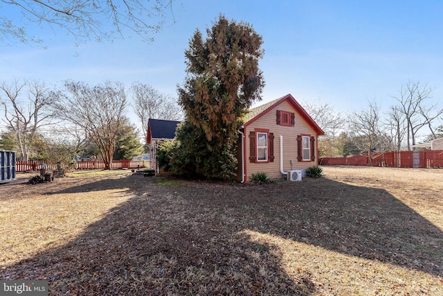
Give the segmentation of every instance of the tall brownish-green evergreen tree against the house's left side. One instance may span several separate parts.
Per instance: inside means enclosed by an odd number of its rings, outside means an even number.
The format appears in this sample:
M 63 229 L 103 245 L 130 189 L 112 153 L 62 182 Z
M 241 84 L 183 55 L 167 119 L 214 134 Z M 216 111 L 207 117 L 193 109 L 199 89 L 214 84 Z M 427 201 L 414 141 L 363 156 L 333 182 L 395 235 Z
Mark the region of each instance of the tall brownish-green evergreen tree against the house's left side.
M 231 177 L 237 166 L 240 120 L 261 99 L 264 87 L 258 67 L 263 41 L 250 24 L 229 21 L 223 15 L 206 34 L 197 30 L 186 50 L 188 76 L 179 87 L 179 103 L 188 121 L 186 131 L 195 137 L 181 143 L 181 148 L 194 155 L 197 172 L 206 177 Z M 197 137 L 200 134 L 204 137 Z M 201 141 L 206 152 L 200 151 Z

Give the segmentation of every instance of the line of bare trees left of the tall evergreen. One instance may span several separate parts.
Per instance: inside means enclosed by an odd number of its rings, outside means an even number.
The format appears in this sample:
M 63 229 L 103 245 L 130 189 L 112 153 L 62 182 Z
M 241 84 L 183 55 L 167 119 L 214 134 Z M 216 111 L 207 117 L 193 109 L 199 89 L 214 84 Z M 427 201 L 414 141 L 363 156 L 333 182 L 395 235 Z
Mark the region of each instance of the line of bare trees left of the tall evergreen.
M 143 123 L 142 132 L 130 123 L 129 106 Z M 94 155 L 107 168 L 112 159 L 132 159 L 144 152 L 147 119 L 182 116 L 173 98 L 140 82 L 129 89 L 118 82 L 91 86 L 66 81 L 58 88 L 41 81 L 2 82 L 0 110 L 6 125 L 0 148 L 17 150 L 17 159 L 55 163 Z

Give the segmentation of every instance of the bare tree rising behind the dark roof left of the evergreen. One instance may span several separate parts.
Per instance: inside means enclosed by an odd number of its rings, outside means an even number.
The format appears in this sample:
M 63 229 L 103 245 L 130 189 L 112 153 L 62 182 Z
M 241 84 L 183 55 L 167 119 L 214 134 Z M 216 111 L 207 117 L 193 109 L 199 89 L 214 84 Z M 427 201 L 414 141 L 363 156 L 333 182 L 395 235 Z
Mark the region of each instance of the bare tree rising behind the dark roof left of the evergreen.
M 174 98 L 161 94 L 154 87 L 140 82 L 131 85 L 134 113 L 142 123 L 143 136 L 147 137 L 148 119 L 179 121 L 183 119 L 181 107 Z

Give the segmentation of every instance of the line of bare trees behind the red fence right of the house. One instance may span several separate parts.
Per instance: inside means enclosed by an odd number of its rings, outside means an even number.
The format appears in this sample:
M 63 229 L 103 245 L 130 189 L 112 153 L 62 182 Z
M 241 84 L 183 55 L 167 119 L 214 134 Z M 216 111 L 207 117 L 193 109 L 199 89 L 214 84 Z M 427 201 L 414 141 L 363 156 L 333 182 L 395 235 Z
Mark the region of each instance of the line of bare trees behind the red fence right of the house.
M 381 112 L 375 101 L 364 110 L 335 112 L 329 104 L 308 102 L 307 112 L 325 131 L 319 139 L 320 157 L 359 155 L 369 152 L 413 150 L 417 135 L 426 128 L 422 141 L 443 137 L 443 107 L 432 100 L 433 88 L 420 82 L 401 85 L 392 96 L 394 105 Z M 372 159 L 369 159 L 372 161 Z

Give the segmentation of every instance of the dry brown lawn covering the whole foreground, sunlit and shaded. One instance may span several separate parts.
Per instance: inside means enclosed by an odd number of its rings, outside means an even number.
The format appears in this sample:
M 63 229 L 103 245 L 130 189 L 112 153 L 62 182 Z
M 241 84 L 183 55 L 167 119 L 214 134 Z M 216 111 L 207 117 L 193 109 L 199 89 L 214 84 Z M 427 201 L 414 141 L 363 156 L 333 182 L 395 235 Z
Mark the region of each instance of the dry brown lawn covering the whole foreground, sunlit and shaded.
M 0 279 L 46 279 L 50 295 L 443 295 L 443 171 L 323 170 L 1 184 Z

